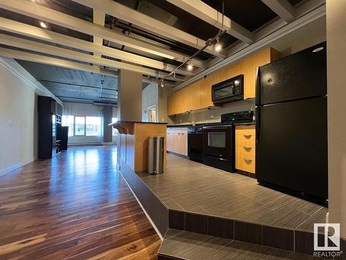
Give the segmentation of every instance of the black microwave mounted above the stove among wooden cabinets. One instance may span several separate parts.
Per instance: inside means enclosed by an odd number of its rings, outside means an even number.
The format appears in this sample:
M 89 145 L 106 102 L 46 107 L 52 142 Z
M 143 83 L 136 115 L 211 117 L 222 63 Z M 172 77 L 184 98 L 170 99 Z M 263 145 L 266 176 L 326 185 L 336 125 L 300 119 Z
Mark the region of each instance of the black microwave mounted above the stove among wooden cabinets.
M 244 75 L 212 85 L 212 102 L 215 104 L 244 99 Z

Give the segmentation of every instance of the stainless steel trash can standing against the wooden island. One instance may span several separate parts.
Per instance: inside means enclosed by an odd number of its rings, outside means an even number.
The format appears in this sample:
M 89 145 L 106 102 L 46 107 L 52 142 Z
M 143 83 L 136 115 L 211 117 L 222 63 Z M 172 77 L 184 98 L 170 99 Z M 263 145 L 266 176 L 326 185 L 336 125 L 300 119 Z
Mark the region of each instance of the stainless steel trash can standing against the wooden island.
M 165 137 L 149 137 L 148 173 L 163 173 L 163 155 L 165 153 Z

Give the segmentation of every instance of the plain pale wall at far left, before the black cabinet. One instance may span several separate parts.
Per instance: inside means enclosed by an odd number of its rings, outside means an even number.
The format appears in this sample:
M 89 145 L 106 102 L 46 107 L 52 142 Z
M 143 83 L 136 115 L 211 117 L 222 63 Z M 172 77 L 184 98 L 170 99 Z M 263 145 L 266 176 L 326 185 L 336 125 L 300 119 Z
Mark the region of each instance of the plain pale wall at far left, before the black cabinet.
M 37 95 L 0 64 L 0 175 L 37 157 Z

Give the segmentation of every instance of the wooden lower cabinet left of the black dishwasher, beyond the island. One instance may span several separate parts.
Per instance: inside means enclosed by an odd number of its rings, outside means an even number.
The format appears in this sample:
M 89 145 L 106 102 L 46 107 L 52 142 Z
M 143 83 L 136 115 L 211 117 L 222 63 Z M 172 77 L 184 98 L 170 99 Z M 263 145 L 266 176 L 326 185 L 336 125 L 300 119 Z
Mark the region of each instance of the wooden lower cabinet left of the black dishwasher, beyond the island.
M 167 128 L 167 151 L 188 156 L 188 128 Z

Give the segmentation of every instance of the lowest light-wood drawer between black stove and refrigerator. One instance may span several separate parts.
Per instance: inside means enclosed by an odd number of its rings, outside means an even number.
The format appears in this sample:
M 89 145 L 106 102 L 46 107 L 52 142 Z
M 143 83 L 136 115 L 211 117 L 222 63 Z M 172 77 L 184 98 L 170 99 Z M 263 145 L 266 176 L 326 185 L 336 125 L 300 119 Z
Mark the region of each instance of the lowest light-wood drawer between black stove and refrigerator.
M 235 148 L 235 168 L 255 173 L 255 148 Z

